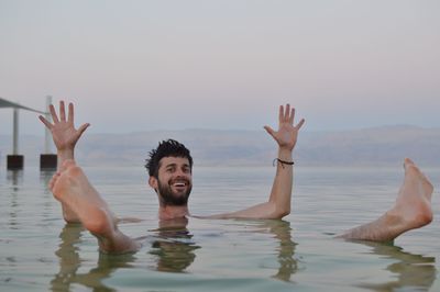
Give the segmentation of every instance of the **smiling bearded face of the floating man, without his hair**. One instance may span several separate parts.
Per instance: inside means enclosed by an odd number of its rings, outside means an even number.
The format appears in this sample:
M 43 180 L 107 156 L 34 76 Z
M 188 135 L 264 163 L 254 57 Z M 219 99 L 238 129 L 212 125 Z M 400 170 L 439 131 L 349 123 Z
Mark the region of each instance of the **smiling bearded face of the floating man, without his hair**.
M 165 205 L 186 205 L 193 188 L 191 168 L 187 158 L 164 157 L 160 161 L 158 179 L 150 178 Z

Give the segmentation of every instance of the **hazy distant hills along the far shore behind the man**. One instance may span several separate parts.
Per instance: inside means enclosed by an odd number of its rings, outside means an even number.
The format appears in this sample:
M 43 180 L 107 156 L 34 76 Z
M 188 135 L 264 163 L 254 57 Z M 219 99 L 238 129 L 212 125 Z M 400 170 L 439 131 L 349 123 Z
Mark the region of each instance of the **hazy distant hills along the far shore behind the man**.
M 90 134 L 77 145 L 82 165 L 142 166 L 158 141 L 175 138 L 191 150 L 196 165 L 264 166 L 276 157 L 276 145 L 262 131 L 151 131 L 130 134 Z M 0 136 L 0 165 L 11 151 L 11 137 Z M 37 165 L 44 141 L 21 136 L 20 151 L 26 165 Z M 341 132 L 300 133 L 295 151 L 305 166 L 396 165 L 411 157 L 424 166 L 440 166 L 440 128 L 383 126 Z

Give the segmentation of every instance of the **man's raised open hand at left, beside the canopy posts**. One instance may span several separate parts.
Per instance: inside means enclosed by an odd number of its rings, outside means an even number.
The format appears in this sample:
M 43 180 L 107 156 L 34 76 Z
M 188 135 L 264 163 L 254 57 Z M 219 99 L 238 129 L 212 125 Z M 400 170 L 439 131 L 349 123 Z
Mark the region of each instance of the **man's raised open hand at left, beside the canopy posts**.
M 58 151 L 63 150 L 74 150 L 76 143 L 79 137 L 90 125 L 89 123 L 82 124 L 78 130 L 74 125 L 74 104 L 68 105 L 68 116 L 66 120 L 66 111 L 64 106 L 64 101 L 59 102 L 59 119 L 56 114 L 54 105 L 50 106 L 51 115 L 54 121 L 52 124 L 42 115 L 40 120 L 46 125 L 46 127 L 52 132 L 52 137 L 54 139 L 55 146 Z

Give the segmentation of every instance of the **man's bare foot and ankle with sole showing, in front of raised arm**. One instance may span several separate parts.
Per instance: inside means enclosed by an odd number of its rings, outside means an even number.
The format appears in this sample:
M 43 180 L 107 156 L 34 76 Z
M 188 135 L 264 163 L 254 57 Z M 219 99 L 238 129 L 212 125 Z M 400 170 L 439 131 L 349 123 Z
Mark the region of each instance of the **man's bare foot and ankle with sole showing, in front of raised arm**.
M 98 238 L 102 251 L 139 249 L 139 243 L 118 229 L 116 216 L 74 160 L 63 162 L 50 188 L 55 199 L 75 212 L 84 227 Z

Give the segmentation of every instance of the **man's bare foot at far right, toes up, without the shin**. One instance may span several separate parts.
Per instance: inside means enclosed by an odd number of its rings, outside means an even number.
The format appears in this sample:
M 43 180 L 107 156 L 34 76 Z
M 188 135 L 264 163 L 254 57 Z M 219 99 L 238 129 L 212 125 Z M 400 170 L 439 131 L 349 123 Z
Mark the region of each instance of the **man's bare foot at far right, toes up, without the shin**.
M 409 158 L 405 159 L 405 180 L 397 200 L 386 215 L 398 222 L 403 231 L 422 227 L 432 221 L 432 184 Z

